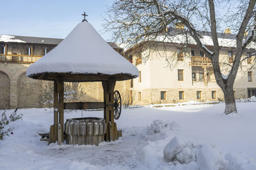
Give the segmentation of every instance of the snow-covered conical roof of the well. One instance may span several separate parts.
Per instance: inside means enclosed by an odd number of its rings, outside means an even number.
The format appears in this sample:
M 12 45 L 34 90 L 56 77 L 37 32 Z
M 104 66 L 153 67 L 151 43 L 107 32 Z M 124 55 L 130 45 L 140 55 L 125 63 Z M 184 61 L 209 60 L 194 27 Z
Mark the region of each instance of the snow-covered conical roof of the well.
M 81 22 L 51 52 L 31 64 L 26 76 L 40 80 L 62 76 L 66 81 L 101 81 L 128 80 L 138 74 L 138 69 L 111 48 L 90 23 Z

